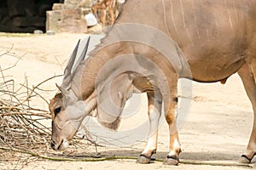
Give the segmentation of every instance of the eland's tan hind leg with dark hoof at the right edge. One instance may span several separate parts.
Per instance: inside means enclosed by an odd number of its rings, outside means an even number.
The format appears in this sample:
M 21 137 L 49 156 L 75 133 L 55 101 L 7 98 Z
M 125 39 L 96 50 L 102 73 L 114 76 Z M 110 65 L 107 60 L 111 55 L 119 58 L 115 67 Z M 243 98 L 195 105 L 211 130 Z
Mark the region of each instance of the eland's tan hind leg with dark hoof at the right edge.
M 254 74 L 253 74 L 254 72 Z M 241 81 L 244 85 L 244 88 L 247 92 L 248 98 L 251 100 L 253 105 L 253 130 L 249 143 L 247 144 L 247 151 L 245 155 L 241 156 L 242 163 L 250 163 L 253 159 L 253 156 L 256 154 L 256 82 L 255 82 L 255 71 L 253 71 L 247 64 L 243 65 L 238 71 Z

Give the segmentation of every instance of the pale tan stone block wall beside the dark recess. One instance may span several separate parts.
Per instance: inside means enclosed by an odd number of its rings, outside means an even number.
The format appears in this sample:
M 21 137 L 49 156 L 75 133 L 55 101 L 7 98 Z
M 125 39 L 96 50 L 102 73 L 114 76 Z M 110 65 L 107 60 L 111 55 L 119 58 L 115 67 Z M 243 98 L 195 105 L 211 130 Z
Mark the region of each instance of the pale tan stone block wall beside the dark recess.
M 87 32 L 84 15 L 91 12 L 93 0 L 65 0 L 55 3 L 51 11 L 47 11 L 46 30 L 55 32 Z

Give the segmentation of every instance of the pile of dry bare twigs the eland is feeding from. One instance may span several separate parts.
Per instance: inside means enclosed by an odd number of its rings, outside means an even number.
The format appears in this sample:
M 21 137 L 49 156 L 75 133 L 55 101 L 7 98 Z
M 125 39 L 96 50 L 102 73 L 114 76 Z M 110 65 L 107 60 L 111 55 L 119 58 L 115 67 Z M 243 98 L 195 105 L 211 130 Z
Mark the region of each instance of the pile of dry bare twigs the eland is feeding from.
M 88 141 L 84 137 L 76 136 L 72 142 L 73 151 L 54 152 L 49 148 L 51 129 L 45 126 L 45 122 L 50 122 L 49 111 L 32 107 L 32 101 L 44 102 L 48 105 L 49 99 L 44 99 L 44 94 L 48 89 L 43 89 L 47 83 L 55 77 L 29 87 L 25 77 L 23 83 L 17 85 L 12 76 L 5 75 L 5 72 L 15 67 L 22 59 L 12 53 L 9 48 L 1 57 L 15 57 L 14 65 L 2 69 L 0 65 L 0 162 L 16 161 L 26 164 L 28 160 L 33 161 L 38 155 L 43 156 L 67 156 L 73 154 L 74 149 L 80 148 L 81 143 Z M 44 93 L 42 93 L 44 92 Z M 36 157 L 35 157 L 36 156 Z

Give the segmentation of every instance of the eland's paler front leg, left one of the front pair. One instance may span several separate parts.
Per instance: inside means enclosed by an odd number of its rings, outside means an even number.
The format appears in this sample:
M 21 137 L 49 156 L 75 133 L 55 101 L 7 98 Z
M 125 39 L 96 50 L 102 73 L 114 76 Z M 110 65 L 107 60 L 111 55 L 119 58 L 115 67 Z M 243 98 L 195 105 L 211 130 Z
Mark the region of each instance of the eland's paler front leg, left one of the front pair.
M 154 94 L 154 92 L 148 93 L 148 117 L 150 123 L 149 138 L 146 148 L 143 153 L 138 157 L 137 163 L 150 163 L 151 156 L 155 154 L 157 149 L 157 138 L 158 138 L 158 127 L 160 121 L 160 111 L 161 111 L 162 99 L 159 94 Z

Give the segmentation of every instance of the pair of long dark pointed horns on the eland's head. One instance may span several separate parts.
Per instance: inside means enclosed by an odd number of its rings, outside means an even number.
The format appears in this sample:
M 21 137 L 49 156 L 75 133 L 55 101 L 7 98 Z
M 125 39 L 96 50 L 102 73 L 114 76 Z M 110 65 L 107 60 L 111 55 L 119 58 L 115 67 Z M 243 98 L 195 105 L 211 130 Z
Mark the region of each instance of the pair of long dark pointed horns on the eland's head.
M 67 66 L 64 70 L 64 77 L 63 77 L 63 82 L 61 84 L 61 88 L 64 88 L 66 90 L 69 90 L 71 88 L 71 82 L 73 81 L 73 77 L 75 75 L 76 69 L 80 62 L 84 60 L 88 46 L 90 42 L 90 37 L 87 39 L 87 42 L 85 43 L 84 49 L 82 53 L 80 54 L 79 58 L 77 59 L 78 51 L 79 51 L 79 44 L 80 40 L 77 43 L 76 47 L 73 50 L 73 54 L 71 55 L 70 59 L 68 60 Z M 75 62 L 76 61 L 76 62 Z

